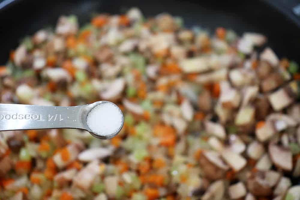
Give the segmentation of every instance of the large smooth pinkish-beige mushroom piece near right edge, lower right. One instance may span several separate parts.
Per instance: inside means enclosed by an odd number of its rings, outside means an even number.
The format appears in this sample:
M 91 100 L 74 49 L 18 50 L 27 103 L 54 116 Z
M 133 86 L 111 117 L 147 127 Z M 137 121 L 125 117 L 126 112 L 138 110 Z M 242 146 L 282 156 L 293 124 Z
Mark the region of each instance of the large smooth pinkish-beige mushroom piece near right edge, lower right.
M 270 142 L 268 152 L 276 167 L 285 171 L 292 170 L 292 153 L 289 149 L 279 146 L 275 142 Z

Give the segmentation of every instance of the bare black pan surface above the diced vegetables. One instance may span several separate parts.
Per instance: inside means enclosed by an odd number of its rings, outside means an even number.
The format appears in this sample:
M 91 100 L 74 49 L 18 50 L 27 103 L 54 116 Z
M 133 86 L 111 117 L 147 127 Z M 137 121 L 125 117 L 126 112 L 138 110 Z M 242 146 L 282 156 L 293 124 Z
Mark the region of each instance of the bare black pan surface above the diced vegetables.
M 268 37 L 268 45 L 280 58 L 300 61 L 300 27 L 262 0 L 14 0 L 0 10 L 0 65 L 6 63 L 9 51 L 16 48 L 22 37 L 41 28 L 54 27 L 62 14 L 76 14 L 80 23 L 84 24 L 93 13 L 124 13 L 133 6 L 139 7 L 145 16 L 162 12 L 182 16 L 187 27 L 199 25 L 211 32 L 218 26 L 232 28 L 238 34 L 245 31 L 260 32 Z

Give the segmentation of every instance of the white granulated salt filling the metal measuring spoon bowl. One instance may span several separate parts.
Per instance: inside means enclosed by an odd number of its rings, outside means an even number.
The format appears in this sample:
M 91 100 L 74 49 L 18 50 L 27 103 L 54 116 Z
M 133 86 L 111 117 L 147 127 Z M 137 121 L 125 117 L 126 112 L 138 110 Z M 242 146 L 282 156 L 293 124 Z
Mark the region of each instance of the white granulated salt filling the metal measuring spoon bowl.
M 118 106 L 105 102 L 95 106 L 88 113 L 86 123 L 94 133 L 109 136 L 122 127 L 123 114 Z

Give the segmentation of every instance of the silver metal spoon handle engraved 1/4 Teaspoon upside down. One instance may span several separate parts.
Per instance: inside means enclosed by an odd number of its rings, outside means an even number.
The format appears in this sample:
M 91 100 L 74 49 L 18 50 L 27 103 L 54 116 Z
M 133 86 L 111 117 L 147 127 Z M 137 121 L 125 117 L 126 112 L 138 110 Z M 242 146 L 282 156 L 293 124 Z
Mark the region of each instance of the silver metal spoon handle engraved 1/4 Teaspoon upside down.
M 83 106 L 0 104 L 0 131 L 52 128 L 84 129 Z

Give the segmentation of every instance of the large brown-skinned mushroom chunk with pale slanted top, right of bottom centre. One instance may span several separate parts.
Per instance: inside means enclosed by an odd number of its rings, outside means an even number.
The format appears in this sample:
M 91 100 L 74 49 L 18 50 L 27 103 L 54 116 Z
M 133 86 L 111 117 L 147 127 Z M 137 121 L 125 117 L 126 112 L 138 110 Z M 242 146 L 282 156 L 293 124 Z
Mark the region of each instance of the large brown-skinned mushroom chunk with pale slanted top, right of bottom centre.
M 199 164 L 206 178 L 217 180 L 226 174 L 229 167 L 221 159 L 220 154 L 214 151 L 206 151 L 200 157 Z

